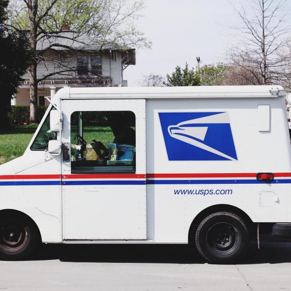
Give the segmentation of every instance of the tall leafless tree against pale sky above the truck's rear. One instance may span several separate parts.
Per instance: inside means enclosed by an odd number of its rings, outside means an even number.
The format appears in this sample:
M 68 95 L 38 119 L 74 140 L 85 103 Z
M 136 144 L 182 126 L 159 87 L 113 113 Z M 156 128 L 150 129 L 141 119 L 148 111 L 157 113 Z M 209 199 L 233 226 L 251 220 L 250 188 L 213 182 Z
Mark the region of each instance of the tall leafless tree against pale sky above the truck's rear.
M 242 27 L 233 28 L 238 44 L 230 49 L 232 72 L 240 72 L 248 84 L 273 84 L 287 77 L 287 6 L 287 0 L 247 0 L 240 9 L 234 7 Z

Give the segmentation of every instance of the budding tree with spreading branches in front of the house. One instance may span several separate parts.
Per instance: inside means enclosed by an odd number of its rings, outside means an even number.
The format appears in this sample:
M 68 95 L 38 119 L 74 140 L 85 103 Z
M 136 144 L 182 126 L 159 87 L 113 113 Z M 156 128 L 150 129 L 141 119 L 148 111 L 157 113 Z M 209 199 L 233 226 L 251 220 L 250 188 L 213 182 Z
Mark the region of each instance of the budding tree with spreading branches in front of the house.
M 66 57 L 67 51 L 93 46 L 100 51 L 149 47 L 150 42 L 134 24 L 142 9 L 140 0 L 11 0 L 8 25 L 27 31 L 34 55 L 29 68 L 30 122 L 37 121 L 37 83 L 76 70 L 58 58 L 49 58 L 48 51 Z M 57 70 L 38 80 L 36 69 L 41 62 L 56 62 Z

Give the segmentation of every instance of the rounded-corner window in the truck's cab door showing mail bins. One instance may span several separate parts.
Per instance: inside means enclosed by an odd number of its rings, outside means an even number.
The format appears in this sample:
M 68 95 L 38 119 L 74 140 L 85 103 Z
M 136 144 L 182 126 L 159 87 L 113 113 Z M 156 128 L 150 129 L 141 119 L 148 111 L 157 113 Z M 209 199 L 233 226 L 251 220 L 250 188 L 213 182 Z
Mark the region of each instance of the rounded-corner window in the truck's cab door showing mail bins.
M 86 111 L 71 115 L 72 173 L 135 173 L 135 115 Z

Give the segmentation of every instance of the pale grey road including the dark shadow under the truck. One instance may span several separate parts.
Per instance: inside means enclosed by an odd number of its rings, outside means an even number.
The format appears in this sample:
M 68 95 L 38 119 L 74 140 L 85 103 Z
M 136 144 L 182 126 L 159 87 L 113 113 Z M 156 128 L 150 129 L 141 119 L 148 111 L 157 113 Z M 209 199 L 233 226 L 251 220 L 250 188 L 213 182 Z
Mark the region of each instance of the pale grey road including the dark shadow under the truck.
M 291 291 L 291 243 L 253 245 L 237 265 L 205 263 L 188 245 L 44 245 L 0 261 L 0 291 Z

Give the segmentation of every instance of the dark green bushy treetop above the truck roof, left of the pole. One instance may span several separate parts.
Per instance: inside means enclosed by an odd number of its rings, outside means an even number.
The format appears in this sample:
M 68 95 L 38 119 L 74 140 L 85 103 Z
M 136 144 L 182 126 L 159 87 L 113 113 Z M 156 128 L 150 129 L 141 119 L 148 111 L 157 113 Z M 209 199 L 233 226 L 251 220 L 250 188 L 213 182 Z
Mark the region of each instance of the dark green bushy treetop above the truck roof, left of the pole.
M 192 68 L 191 70 L 186 63 L 185 68 L 181 69 L 180 66 L 176 66 L 175 71 L 166 76 L 167 81 L 164 82 L 165 86 L 199 86 L 200 78 L 199 74 Z

